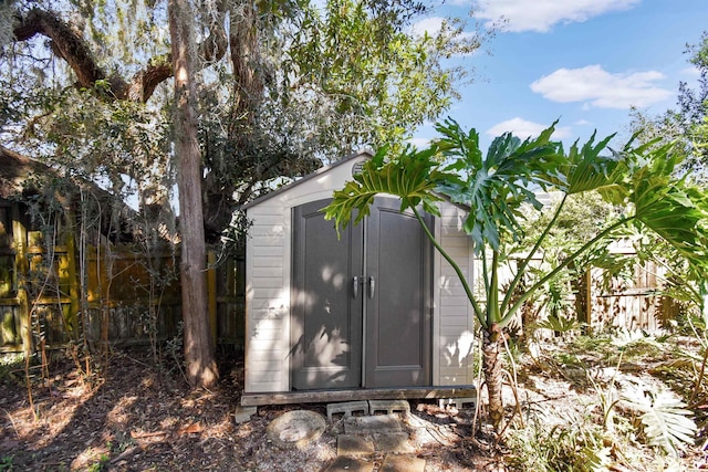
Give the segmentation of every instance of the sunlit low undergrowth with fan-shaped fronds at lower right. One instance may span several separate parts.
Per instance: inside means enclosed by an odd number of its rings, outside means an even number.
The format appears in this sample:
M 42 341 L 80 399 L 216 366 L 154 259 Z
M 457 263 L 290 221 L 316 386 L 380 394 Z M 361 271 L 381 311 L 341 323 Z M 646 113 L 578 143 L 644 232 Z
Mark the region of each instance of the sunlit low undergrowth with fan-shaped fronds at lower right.
M 694 445 L 700 429 L 696 422 L 702 428 L 705 419 L 697 411 L 694 422 L 694 412 L 685 402 L 700 405 L 705 397 L 687 400 L 693 380 L 677 384 L 666 379 L 669 370 L 669 380 L 695 379 L 700 370 L 702 356 L 696 353 L 695 343 L 687 340 L 618 329 L 545 344 L 546 350 L 521 371 L 542 369 L 527 385 L 534 384 L 531 389 L 543 398 L 551 396 L 545 386 L 549 390 L 555 386 L 552 391 L 560 394 L 560 403 L 522 403 L 529 421 L 512 429 L 508 438 L 513 470 L 585 470 L 593 453 L 605 458 L 605 462 L 594 463 L 602 464 L 598 470 L 686 470 L 697 452 Z M 689 353 L 693 359 L 686 361 Z M 568 408 L 559 381 L 570 384 L 577 394 Z

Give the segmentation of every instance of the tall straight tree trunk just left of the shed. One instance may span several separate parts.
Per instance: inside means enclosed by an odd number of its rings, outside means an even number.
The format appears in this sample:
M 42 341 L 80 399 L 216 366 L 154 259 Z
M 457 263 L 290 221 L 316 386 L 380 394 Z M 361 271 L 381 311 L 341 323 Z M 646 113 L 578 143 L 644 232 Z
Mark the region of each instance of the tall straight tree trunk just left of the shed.
M 188 0 L 169 0 L 169 30 L 175 71 L 175 157 L 179 190 L 181 234 L 181 300 L 185 325 L 187 379 L 195 387 L 214 386 L 218 378 L 209 329 L 206 286 L 206 249 L 201 208 L 201 155 L 197 141 L 192 77 L 196 51 L 191 25 L 194 10 Z

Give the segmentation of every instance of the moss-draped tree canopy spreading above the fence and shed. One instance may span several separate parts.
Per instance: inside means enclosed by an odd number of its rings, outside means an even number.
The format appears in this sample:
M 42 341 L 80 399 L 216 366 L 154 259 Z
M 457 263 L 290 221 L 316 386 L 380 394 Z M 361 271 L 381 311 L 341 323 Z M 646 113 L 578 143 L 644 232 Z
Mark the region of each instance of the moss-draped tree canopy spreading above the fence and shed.
M 434 33 L 414 0 L 191 6 L 207 235 L 279 176 L 400 144 L 465 78 L 446 60 L 493 32 Z M 15 1 L 0 10 L 0 136 L 17 151 L 169 214 L 173 76 L 167 3 Z

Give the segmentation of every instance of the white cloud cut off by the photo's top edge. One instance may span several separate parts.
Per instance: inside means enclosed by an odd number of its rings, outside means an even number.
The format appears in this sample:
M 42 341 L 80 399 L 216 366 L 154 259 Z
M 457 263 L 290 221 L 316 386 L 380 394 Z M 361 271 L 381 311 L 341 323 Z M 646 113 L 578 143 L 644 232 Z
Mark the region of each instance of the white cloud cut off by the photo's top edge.
M 475 15 L 489 20 L 503 18 L 507 31 L 548 32 L 558 23 L 582 23 L 593 17 L 628 10 L 641 0 L 477 0 Z

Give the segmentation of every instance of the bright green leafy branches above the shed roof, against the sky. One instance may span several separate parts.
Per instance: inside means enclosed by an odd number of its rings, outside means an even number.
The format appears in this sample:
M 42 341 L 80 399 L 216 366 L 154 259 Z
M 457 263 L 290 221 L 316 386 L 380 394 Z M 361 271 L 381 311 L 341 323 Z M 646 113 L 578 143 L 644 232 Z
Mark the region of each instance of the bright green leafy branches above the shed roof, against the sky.
M 413 19 L 426 11 L 417 2 L 372 0 L 305 8 L 287 44 L 290 61 L 283 65 L 294 74 L 281 76 L 279 96 L 291 103 L 314 101 L 332 114 L 327 119 L 346 135 L 348 146 L 400 145 L 457 96 L 455 84 L 466 72 L 441 60 L 469 54 L 485 39 L 462 34 L 460 20 L 446 21 L 438 32 L 410 33 Z M 332 136 L 327 132 L 323 138 Z

